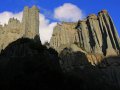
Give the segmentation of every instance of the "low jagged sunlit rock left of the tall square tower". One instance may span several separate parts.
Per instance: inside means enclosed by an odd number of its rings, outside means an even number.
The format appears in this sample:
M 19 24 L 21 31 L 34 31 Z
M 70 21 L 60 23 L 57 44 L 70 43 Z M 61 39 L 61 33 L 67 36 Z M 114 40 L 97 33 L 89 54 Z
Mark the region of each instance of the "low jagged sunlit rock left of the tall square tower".
M 17 19 L 11 18 L 8 24 L 1 27 L 0 30 L 0 50 L 5 49 L 9 43 L 22 37 L 22 24 Z

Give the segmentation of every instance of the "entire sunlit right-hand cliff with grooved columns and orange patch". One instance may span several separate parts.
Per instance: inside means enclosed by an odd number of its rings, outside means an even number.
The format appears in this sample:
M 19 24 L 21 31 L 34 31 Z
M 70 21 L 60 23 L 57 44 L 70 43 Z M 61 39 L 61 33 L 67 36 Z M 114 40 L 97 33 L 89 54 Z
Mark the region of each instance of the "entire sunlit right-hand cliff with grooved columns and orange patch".
M 51 47 L 60 53 L 72 44 L 81 48 L 91 63 L 100 61 L 98 57 L 120 55 L 120 39 L 106 10 L 77 23 L 61 23 L 54 28 Z

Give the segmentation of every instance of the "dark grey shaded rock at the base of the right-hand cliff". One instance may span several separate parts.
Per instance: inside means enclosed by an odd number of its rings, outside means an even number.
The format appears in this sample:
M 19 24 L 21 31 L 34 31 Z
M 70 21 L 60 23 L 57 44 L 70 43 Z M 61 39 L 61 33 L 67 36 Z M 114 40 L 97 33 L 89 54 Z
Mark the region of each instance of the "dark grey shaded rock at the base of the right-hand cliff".
M 83 90 L 120 90 L 120 56 L 105 58 L 92 66 L 84 53 L 65 48 L 60 62 L 66 74 L 83 81 Z

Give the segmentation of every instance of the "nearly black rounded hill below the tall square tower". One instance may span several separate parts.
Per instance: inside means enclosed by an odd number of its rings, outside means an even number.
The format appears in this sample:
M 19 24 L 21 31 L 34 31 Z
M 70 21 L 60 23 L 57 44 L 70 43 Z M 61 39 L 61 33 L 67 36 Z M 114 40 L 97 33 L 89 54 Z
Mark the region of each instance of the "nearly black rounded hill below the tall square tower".
M 81 90 L 82 81 L 64 74 L 58 53 L 32 39 L 10 43 L 0 54 L 1 90 Z

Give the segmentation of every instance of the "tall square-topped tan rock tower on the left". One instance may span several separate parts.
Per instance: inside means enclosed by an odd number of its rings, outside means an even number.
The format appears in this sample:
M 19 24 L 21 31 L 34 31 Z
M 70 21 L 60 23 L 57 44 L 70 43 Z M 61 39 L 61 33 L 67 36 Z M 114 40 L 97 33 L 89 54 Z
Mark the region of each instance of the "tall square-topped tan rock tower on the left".
M 39 36 L 39 9 L 36 6 L 24 8 L 22 25 L 24 37 L 35 39 Z

